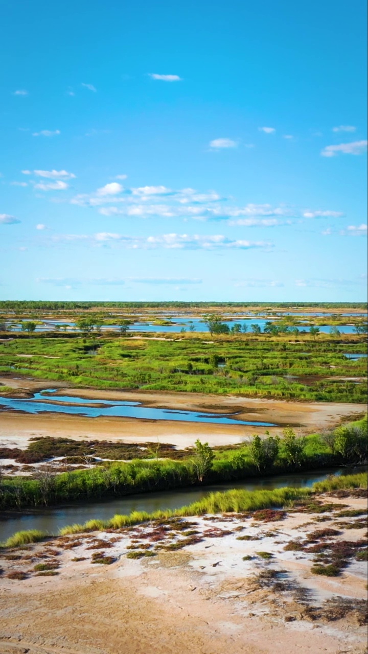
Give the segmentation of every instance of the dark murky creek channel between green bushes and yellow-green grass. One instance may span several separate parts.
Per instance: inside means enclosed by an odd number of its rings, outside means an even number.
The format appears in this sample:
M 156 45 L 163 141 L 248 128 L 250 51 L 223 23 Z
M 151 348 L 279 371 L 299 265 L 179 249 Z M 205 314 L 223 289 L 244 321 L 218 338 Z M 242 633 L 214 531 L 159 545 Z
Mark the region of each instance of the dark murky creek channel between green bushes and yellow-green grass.
M 0 542 L 6 540 L 16 531 L 22 529 L 41 529 L 56 534 L 60 527 L 74 523 L 84 523 L 90 519 L 108 520 L 115 513 L 128 514 L 132 511 L 147 511 L 158 509 L 177 509 L 181 506 L 197 502 L 209 492 L 217 490 L 272 490 L 289 487 L 310 487 L 316 481 L 323 481 L 331 474 L 350 473 L 352 471 L 333 468 L 331 470 L 314 470 L 275 477 L 254 477 L 249 481 L 234 481 L 216 486 L 189 487 L 185 489 L 162 492 L 142 493 L 127 497 L 105 500 L 94 504 L 74 504 L 55 508 L 38 509 L 20 515 L 4 517 L 0 515 Z

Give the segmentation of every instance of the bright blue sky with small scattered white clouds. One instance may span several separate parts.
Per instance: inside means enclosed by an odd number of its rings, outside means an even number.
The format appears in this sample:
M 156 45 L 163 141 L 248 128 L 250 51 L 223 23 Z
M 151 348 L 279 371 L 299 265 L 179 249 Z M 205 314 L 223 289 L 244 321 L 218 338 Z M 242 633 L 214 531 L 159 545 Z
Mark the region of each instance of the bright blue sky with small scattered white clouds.
M 0 299 L 366 300 L 365 1 L 0 10 Z

